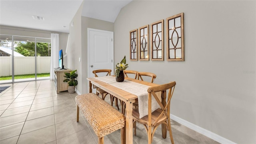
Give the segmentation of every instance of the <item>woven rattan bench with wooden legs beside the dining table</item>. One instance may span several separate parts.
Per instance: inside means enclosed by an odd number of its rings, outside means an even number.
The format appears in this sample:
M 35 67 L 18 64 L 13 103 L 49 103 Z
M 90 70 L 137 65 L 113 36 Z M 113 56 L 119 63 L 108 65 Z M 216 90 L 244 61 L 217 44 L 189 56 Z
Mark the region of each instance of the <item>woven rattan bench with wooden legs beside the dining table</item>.
M 104 136 L 121 129 L 121 143 L 124 144 L 125 117 L 106 101 L 94 93 L 76 96 L 76 120 L 79 121 L 79 109 L 98 136 L 98 144 L 104 143 Z

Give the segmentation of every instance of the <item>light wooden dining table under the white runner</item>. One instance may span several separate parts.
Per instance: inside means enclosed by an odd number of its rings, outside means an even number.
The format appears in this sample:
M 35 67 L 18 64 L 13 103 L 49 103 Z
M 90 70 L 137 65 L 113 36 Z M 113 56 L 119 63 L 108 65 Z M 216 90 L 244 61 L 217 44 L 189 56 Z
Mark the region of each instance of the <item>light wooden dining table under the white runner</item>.
M 126 144 L 132 144 L 133 142 L 133 121 L 132 121 L 132 104 L 138 98 L 136 95 L 126 92 L 120 88 L 116 88 L 110 84 L 97 80 L 96 78 L 87 78 L 89 81 L 89 92 L 92 92 L 92 85 L 101 88 L 102 90 L 108 92 L 109 94 L 115 96 L 116 98 L 126 102 Z M 144 84 L 147 86 L 158 86 L 158 84 L 136 80 L 134 78 L 125 77 L 125 80 L 136 82 L 139 84 Z

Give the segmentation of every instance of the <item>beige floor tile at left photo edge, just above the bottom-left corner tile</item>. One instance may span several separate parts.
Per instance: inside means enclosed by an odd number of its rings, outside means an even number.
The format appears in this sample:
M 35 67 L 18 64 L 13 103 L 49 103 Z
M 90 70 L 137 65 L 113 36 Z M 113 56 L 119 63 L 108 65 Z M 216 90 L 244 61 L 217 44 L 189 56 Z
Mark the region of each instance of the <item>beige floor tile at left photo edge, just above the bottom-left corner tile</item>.
M 24 122 L 0 128 L 0 140 L 20 135 Z

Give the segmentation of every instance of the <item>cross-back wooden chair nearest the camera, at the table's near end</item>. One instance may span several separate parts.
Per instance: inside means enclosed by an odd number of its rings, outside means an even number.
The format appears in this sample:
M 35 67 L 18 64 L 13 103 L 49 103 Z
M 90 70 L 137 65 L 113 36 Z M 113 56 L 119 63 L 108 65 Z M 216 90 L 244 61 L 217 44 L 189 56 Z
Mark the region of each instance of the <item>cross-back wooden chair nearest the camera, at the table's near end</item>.
M 168 84 L 162 84 L 159 86 L 153 86 L 148 88 L 148 115 L 140 118 L 138 108 L 132 110 L 132 117 L 135 123 L 134 135 L 136 135 L 136 122 L 143 124 L 148 133 L 148 144 L 151 144 L 154 137 L 154 132 L 156 128 L 162 124 L 162 137 L 166 138 L 166 128 L 170 133 L 170 140 L 174 144 L 172 138 L 172 129 L 170 123 L 170 101 L 174 92 L 176 82 L 170 82 Z M 168 92 L 168 97 L 166 100 L 166 91 Z M 158 99 L 157 92 L 161 92 L 162 102 Z M 159 104 L 160 108 L 151 112 L 151 102 L 155 99 Z M 152 129 L 153 128 L 153 129 Z

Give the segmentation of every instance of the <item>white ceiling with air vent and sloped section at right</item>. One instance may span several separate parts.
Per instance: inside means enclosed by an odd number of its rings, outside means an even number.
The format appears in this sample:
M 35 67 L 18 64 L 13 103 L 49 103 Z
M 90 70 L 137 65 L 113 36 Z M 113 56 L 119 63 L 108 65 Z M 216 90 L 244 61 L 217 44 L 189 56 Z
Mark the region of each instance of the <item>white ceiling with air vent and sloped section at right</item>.
M 82 16 L 114 22 L 132 0 L 84 0 Z M 0 0 L 0 25 L 69 32 L 82 0 Z M 33 19 L 42 16 L 44 20 Z

